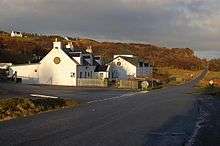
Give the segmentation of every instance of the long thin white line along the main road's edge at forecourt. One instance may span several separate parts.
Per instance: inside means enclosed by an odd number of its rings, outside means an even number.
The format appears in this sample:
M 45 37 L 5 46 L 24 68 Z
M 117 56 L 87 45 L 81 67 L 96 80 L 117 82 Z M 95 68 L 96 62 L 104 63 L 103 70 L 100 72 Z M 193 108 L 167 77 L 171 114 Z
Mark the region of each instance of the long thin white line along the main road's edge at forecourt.
M 87 103 L 91 104 L 91 103 L 103 102 L 103 101 L 120 99 L 120 98 L 128 98 L 128 97 L 131 97 L 133 95 L 144 94 L 144 93 L 147 93 L 147 92 L 149 92 L 149 91 L 140 91 L 140 92 L 135 92 L 135 93 L 127 93 L 127 94 L 123 94 L 123 95 L 120 95 L 120 96 L 115 96 L 115 97 L 110 97 L 110 98 L 105 98 L 105 99 L 92 100 L 92 101 L 88 101 Z

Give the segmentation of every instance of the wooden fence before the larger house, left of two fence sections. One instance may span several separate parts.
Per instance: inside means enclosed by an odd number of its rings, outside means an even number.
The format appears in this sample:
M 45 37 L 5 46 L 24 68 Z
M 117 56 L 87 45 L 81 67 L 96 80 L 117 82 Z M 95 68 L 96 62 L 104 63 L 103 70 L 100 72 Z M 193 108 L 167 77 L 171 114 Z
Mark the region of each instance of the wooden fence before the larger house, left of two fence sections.
M 108 81 L 102 79 L 77 79 L 77 86 L 107 87 Z

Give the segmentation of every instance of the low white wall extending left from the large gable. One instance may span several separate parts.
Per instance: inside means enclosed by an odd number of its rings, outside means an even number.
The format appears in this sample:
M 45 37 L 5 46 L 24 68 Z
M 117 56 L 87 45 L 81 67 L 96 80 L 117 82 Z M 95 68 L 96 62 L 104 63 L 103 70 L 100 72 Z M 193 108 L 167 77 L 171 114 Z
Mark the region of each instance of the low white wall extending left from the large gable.
M 22 83 L 38 84 L 39 65 L 40 64 L 13 65 L 10 67 L 10 76 L 17 72 L 17 77 L 22 78 Z

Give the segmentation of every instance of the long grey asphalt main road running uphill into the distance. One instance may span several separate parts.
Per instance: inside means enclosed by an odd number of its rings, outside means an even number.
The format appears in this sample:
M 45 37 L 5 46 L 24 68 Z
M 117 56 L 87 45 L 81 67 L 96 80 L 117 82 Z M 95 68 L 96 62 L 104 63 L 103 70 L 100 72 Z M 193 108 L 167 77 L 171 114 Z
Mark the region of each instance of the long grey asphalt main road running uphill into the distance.
M 181 86 L 2 122 L 0 145 L 182 145 L 196 122 L 191 92 L 204 74 Z

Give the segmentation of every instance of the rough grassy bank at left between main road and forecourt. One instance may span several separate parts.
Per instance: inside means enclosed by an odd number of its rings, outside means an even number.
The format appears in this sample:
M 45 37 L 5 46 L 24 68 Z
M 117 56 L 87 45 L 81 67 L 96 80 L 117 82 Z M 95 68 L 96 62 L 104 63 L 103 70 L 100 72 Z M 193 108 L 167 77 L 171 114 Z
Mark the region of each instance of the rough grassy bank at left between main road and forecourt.
M 0 100 L 0 121 L 26 117 L 64 107 L 77 107 L 79 102 L 71 99 L 10 98 Z

